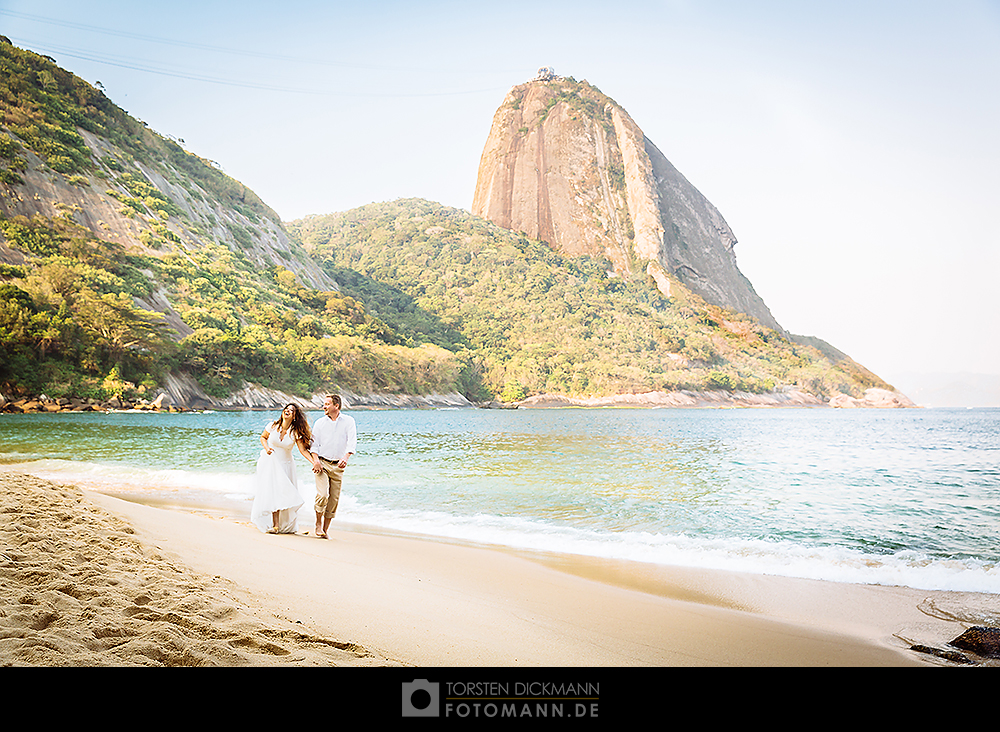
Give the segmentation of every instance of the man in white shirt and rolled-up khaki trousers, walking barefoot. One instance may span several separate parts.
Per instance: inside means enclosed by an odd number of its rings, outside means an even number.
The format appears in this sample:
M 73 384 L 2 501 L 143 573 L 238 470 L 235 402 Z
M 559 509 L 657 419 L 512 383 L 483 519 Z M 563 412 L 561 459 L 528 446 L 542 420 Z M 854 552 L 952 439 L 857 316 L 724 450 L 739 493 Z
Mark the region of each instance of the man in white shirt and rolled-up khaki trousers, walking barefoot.
M 340 413 L 340 396 L 327 394 L 323 399 L 324 416 L 313 425 L 310 448 L 316 474 L 316 536 L 326 538 L 330 522 L 337 513 L 344 468 L 357 447 L 354 418 Z

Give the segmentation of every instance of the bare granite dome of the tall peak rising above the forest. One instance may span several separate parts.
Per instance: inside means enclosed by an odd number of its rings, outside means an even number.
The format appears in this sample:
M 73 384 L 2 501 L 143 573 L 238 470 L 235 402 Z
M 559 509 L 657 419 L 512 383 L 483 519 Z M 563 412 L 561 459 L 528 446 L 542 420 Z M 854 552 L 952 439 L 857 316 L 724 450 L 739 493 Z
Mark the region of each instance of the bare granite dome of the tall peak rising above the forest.
M 784 333 L 736 266 L 719 211 L 612 99 L 551 74 L 515 86 L 493 118 L 472 213 L 616 273 L 675 278 Z

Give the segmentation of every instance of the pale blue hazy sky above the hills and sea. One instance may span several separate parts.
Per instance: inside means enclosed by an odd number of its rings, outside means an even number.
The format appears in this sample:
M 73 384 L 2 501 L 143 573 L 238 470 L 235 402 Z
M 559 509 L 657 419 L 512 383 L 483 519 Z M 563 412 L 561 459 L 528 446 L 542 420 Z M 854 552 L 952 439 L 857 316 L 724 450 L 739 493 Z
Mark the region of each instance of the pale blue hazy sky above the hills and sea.
M 0 34 L 285 220 L 468 210 L 493 113 L 586 79 L 722 212 L 786 329 L 1000 374 L 1000 0 L 0 0 Z

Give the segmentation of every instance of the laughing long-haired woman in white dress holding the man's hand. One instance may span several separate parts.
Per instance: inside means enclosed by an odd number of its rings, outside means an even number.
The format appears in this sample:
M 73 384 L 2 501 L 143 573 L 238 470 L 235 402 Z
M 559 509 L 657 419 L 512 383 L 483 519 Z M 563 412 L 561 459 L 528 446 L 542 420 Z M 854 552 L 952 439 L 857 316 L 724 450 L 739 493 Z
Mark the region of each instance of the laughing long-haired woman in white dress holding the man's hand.
M 292 448 L 312 463 L 309 447 L 312 433 L 309 423 L 297 404 L 288 404 L 276 420 L 260 434 L 261 450 L 257 460 L 253 507 L 250 520 L 268 534 L 294 534 L 298 510 L 303 504 L 295 479 Z

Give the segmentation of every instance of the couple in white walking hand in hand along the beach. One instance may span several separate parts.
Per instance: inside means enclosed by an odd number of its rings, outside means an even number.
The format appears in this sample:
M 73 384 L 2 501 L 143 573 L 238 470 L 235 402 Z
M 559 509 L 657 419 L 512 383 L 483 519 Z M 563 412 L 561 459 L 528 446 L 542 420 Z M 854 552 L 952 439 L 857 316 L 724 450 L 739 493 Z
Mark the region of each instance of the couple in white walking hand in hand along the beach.
M 323 400 L 323 416 L 310 431 L 309 423 L 297 404 L 288 404 L 276 420 L 260 435 L 261 451 L 257 460 L 253 507 L 250 519 L 269 534 L 294 534 L 298 510 L 304 503 L 295 479 L 292 448 L 313 466 L 316 475 L 316 536 L 326 538 L 330 522 L 337 513 L 344 468 L 357 446 L 354 419 L 340 413 L 336 394 Z

